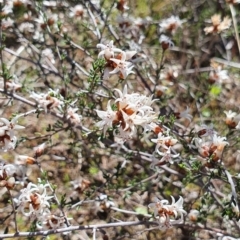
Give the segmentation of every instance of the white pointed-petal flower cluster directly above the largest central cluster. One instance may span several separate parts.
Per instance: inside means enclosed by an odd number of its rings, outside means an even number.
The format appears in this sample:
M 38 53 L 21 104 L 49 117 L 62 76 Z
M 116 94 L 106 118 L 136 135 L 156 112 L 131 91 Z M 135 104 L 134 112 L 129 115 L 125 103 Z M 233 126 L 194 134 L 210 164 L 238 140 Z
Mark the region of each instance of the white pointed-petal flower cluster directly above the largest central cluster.
M 97 48 L 101 49 L 98 57 L 104 57 L 107 61 L 103 79 L 108 79 L 109 74 L 115 74 L 120 72 L 119 77 L 125 79 L 130 73 L 134 73 L 132 68 L 134 67 L 131 62 L 127 60 L 131 59 L 136 51 L 122 51 L 119 48 L 114 47 L 113 41 L 110 41 L 107 45 L 97 44 Z M 115 55 L 115 53 L 118 53 Z

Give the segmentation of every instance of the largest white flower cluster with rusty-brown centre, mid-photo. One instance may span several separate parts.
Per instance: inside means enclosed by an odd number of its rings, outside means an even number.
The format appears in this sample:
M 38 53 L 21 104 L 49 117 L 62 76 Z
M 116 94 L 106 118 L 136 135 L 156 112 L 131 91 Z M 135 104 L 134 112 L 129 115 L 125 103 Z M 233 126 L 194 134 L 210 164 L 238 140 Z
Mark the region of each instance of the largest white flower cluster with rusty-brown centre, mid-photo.
M 127 86 L 123 92 L 115 89 L 119 98 L 115 100 L 115 108 L 108 102 L 107 111 L 96 110 L 102 119 L 96 125 L 103 128 L 104 135 L 109 127 L 116 127 L 114 135 L 122 140 L 128 140 L 135 136 L 137 126 L 142 126 L 144 131 L 151 129 L 151 123 L 157 118 L 151 104 L 152 97 L 146 97 L 138 93 L 127 93 Z

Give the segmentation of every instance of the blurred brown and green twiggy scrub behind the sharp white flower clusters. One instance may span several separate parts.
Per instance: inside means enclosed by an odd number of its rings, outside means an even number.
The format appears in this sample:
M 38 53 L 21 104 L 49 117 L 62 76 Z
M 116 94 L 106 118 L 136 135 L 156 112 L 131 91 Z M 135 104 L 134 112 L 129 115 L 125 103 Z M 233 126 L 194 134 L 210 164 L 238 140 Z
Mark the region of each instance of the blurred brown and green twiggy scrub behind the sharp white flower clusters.
M 231 18 L 229 5 L 224 0 L 129 0 L 126 1 L 129 10 L 122 11 L 124 1 L 117 0 L 100 1 L 99 5 L 80 0 L 13 2 L 13 12 L 9 14 L 13 23 L 8 26 L 4 22 L 8 17 L 1 15 L 1 42 L 5 46 L 1 49 L 1 77 L 21 86 L 6 93 L 0 85 L 1 116 L 10 119 L 16 113 L 36 108 L 30 93 L 47 93 L 49 89 L 58 89 L 66 108 L 74 105 L 82 116 L 79 126 L 66 119 L 64 110 L 60 115 L 50 109 L 48 114 L 39 111 L 20 119 L 26 131 L 19 135 L 14 151 L 1 153 L 4 162 L 17 164 L 19 155 L 33 157 L 33 148 L 47 143 L 44 154 L 38 158 L 44 171 L 39 171 L 39 165 L 24 167 L 25 185 L 37 178 L 48 179 L 56 186 L 56 194 L 63 202 L 61 207 L 73 218 L 73 225 L 147 220 L 141 214 L 149 213 L 147 206 L 155 196 L 168 200 L 171 195 L 176 199 L 183 196 L 187 212 L 200 211 L 195 222 L 186 217 L 185 224 L 171 229 L 109 228 L 99 231 L 97 239 L 222 239 L 217 233 L 239 237 L 239 216 L 232 210 L 231 188 L 224 173 L 225 168 L 231 172 L 239 193 L 239 131 L 224 123 L 225 110 L 239 111 L 239 49 L 233 27 L 220 34 L 204 32 L 214 14 Z M 5 4 L 6 1 L 1 2 L 1 7 Z M 72 17 L 71 11 L 78 4 L 83 12 Z M 234 8 L 239 22 L 240 5 Z M 164 51 L 159 41 L 159 23 L 172 15 L 179 16 L 183 24 L 174 35 L 169 35 L 174 46 Z M 39 23 L 41 16 L 44 23 Z M 240 32 L 240 24 L 237 27 Z M 138 52 L 133 59 L 135 74 L 125 80 L 117 76 L 102 79 L 105 62 L 98 59 L 96 45 L 110 40 L 118 48 Z M 53 58 L 42 54 L 45 49 L 51 49 Z M 227 81 L 210 78 L 210 72 L 219 66 L 228 71 Z M 171 71 L 177 71 L 177 76 L 166 77 Z M 158 99 L 154 109 L 162 125 L 169 127 L 181 143 L 177 149 L 181 157 L 174 164 L 150 168 L 149 156 L 155 145 L 144 140 L 142 129 L 138 130 L 138 138 L 126 142 L 125 148 L 116 148 L 111 147 L 113 129 L 104 137 L 95 126 L 99 121 L 95 110 L 106 109 L 108 100 L 116 97 L 113 89 L 122 90 L 125 84 L 129 92 Z M 167 90 L 162 92 L 161 87 Z M 187 107 L 193 120 L 177 120 L 176 113 Z M 221 136 L 227 136 L 229 146 L 223 154 L 224 165 L 216 163 L 209 170 L 197 151 L 188 147 L 195 136 L 194 129 L 201 124 L 213 124 Z M 156 135 L 149 134 L 149 139 L 152 138 Z M 124 161 L 126 165 L 122 167 Z M 13 195 L 17 196 L 22 187 L 17 185 Z M 106 194 L 118 208 L 139 215 L 100 211 L 95 203 L 71 209 L 73 204 L 94 200 L 101 194 Z M 8 193 L 0 189 L 1 232 L 14 231 L 8 201 Z M 59 211 L 54 203 L 51 208 Z M 27 220 L 17 216 L 21 231 L 33 228 L 34 224 Z M 48 239 L 92 239 L 92 232 Z

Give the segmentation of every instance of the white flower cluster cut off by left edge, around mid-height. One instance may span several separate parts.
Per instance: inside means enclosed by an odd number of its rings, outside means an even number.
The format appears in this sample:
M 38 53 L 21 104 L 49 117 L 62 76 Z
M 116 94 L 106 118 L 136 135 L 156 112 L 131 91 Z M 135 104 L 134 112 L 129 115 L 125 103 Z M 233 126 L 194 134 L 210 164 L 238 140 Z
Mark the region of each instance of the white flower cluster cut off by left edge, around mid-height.
M 11 121 L 6 118 L 0 118 L 0 151 L 8 151 L 14 149 L 17 143 L 15 130 L 25 127 L 17 125 L 19 116 L 14 117 Z

